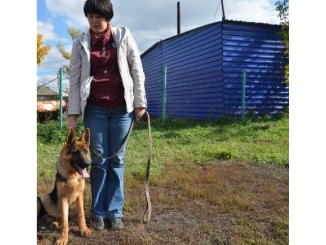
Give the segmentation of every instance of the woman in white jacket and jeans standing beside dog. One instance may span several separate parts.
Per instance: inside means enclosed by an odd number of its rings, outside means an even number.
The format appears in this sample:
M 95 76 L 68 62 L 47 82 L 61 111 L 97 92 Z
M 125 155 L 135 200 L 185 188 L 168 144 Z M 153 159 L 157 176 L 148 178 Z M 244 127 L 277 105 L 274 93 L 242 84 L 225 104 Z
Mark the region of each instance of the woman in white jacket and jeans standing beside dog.
M 131 120 L 145 113 L 142 62 L 137 44 L 127 28 L 110 24 L 110 0 L 87 0 L 84 13 L 89 32 L 77 37 L 71 52 L 67 127 L 76 128 L 76 117 L 90 129 L 91 148 L 102 157 L 113 156 L 122 146 Z M 110 159 L 92 154 L 90 182 L 94 228 L 104 229 L 105 220 L 123 229 L 125 147 Z

